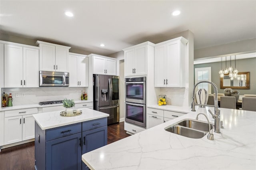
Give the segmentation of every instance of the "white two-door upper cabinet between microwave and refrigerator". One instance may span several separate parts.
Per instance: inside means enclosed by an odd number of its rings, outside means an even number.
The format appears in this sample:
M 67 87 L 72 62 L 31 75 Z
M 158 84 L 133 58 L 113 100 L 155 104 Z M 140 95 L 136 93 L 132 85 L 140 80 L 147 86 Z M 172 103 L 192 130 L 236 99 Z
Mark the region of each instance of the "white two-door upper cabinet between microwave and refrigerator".
M 69 53 L 69 87 L 88 87 L 88 65 L 86 55 Z

